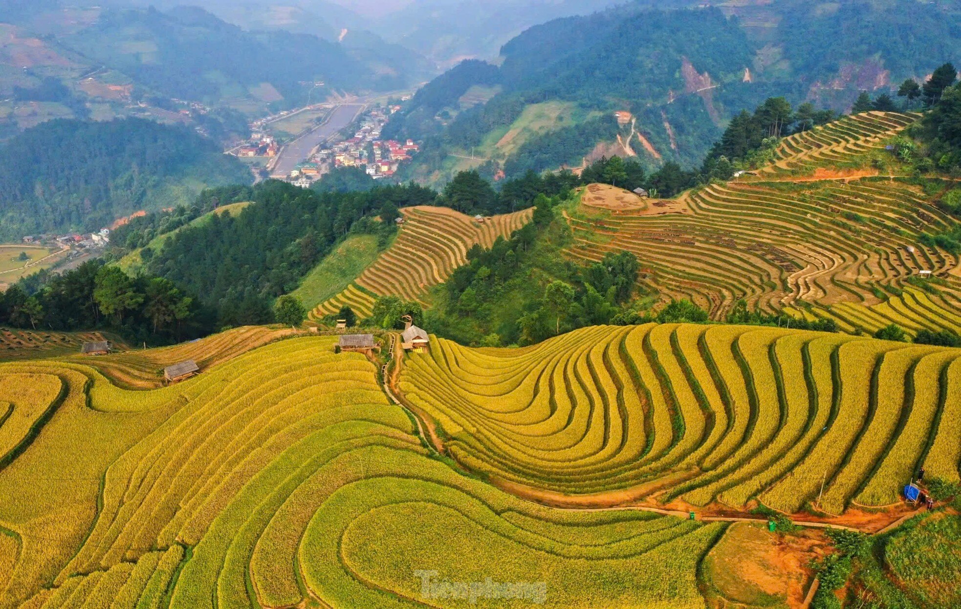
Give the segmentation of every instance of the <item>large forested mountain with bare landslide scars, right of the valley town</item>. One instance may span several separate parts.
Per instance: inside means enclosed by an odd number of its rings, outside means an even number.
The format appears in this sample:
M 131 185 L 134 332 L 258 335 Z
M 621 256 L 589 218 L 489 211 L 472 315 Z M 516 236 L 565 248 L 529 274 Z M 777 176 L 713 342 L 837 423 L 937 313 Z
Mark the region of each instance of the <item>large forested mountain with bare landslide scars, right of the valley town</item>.
M 914 0 L 636 3 L 530 28 L 505 44 L 500 67 L 462 64 L 425 87 L 388 132 L 426 140 L 409 175 L 439 182 L 615 154 L 691 167 L 731 116 L 768 97 L 847 111 L 859 91 L 893 95 L 924 79 L 932 58 L 961 56 L 959 28 L 953 5 Z

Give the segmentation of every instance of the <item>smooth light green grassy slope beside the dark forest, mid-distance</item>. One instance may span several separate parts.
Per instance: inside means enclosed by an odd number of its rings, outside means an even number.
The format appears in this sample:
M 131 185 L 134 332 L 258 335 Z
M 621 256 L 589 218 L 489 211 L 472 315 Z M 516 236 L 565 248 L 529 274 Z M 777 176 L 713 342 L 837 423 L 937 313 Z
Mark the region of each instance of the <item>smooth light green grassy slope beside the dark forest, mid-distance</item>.
M 320 305 L 346 289 L 374 263 L 379 253 L 376 236 L 358 234 L 348 237 L 310 271 L 292 295 L 308 309 Z

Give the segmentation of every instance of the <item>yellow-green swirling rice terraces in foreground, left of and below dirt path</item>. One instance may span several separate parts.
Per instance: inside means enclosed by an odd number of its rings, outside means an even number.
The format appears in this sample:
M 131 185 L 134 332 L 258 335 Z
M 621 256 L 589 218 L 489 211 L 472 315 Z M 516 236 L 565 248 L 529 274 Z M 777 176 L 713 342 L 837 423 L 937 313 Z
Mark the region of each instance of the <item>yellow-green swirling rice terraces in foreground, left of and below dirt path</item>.
M 725 524 L 557 510 L 460 475 L 335 340 L 154 391 L 0 365 L 14 413 L 55 406 L 0 469 L 0 606 L 461 607 L 431 595 L 490 577 L 528 600 L 481 606 L 704 607 L 698 567 Z

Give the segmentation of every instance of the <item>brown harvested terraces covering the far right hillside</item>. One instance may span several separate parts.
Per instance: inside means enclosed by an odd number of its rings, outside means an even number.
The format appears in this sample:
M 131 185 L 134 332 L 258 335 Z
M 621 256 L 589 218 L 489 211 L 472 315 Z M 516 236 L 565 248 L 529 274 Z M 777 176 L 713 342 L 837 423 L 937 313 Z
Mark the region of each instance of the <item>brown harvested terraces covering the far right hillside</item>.
M 781 158 L 758 176 L 644 209 L 569 209 L 568 254 L 594 262 L 632 252 L 642 284 L 664 298 L 690 299 L 715 319 L 744 299 L 766 312 L 831 317 L 848 331 L 891 323 L 909 332 L 961 330 L 961 260 L 920 243 L 923 233 L 957 221 L 903 178 L 810 177 L 837 165 L 827 152 L 864 160 L 913 120 L 880 112 L 846 117 L 785 138 Z M 930 294 L 909 283 L 924 271 L 938 281 Z

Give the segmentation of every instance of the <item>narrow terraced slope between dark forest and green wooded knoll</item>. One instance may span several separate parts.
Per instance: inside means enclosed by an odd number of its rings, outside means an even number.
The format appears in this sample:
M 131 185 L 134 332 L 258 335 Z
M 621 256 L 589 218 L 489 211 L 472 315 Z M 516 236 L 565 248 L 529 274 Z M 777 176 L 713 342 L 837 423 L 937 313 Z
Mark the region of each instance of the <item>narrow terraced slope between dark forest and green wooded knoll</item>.
M 349 305 L 360 317 L 371 313 L 379 296 L 425 303 L 432 286 L 443 283 L 467 262 L 475 244 L 489 248 L 530 222 L 533 209 L 487 218 L 482 224 L 447 207 L 407 207 L 405 224 L 394 244 L 367 267 L 357 281 L 310 312 L 317 320 Z

